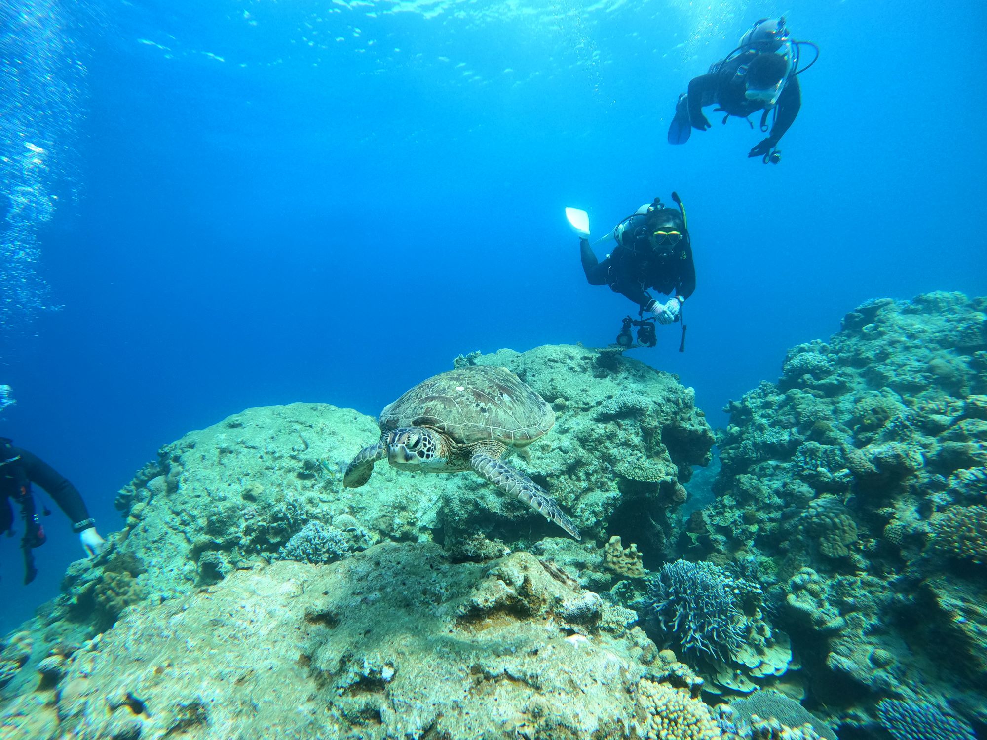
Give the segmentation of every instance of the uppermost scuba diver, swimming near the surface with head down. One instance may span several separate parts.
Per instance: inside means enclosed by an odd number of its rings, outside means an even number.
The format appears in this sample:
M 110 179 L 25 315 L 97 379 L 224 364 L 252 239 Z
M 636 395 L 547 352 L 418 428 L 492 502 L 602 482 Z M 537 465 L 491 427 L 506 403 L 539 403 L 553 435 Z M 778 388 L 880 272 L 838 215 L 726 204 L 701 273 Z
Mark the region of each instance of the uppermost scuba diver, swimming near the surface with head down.
M 801 69 L 798 68 L 800 44 L 815 49 L 815 58 Z M 801 107 L 797 75 L 818 58 L 819 47 L 814 43 L 792 40 L 784 18 L 761 19 L 740 38 L 739 46 L 710 67 L 708 74 L 693 79 L 689 92 L 679 96 L 675 117 L 668 127 L 668 143 L 684 144 L 693 128 L 705 131 L 711 127 L 703 114 L 704 106 L 716 104 L 716 111 L 726 113 L 724 123 L 731 115 L 747 118 L 751 113 L 764 111 L 761 132 L 768 133 L 768 137 L 747 156 L 761 157 L 765 164 L 778 164 L 782 159 L 778 142 Z M 772 111 L 775 117 L 769 133 L 768 115 Z

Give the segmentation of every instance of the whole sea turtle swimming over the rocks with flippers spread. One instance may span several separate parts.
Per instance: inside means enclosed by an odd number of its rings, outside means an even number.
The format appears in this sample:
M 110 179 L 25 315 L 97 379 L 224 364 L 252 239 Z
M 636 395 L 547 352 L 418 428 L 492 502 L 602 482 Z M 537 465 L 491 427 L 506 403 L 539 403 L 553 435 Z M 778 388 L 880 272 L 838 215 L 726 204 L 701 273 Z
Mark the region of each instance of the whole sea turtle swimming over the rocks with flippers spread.
M 579 531 L 542 486 L 501 458 L 555 425 L 555 412 L 505 367 L 468 365 L 419 383 L 377 419 L 381 435 L 346 468 L 342 484 L 358 488 L 387 458 L 399 470 L 474 470 L 551 519 L 576 540 Z

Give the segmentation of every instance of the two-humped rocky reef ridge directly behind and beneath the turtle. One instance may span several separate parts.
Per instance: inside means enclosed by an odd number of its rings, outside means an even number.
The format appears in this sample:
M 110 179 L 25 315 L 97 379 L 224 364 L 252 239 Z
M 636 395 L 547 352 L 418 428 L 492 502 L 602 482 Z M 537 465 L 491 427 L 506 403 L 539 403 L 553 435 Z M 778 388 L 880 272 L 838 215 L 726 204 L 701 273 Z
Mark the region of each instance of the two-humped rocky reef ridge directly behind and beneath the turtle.
M 611 537 L 660 558 L 684 483 L 714 443 L 690 390 L 620 353 L 581 346 L 457 362 L 506 366 L 553 405 L 555 429 L 512 463 L 565 507 L 582 543 L 470 472 L 381 465 L 366 486 L 343 487 L 346 463 L 379 436 L 375 420 L 352 409 L 247 409 L 163 447 L 120 489 L 124 526 L 106 551 L 68 568 L 63 593 L 19 630 L 24 639 L 0 643 L 13 655 L 0 665 L 0 699 L 30 687 L 52 651 L 72 654 L 128 608 L 167 608 L 280 560 L 334 563 L 387 543 L 434 543 L 464 563 L 529 550 L 579 585 L 606 589 L 642 557 L 607 551 Z

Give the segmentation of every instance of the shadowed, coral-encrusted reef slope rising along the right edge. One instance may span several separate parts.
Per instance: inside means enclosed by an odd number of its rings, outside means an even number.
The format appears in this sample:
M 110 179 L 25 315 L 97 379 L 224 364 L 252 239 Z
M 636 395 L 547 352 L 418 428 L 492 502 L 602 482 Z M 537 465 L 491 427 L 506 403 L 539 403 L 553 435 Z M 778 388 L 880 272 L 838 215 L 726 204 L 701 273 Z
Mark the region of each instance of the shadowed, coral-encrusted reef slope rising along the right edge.
M 727 407 L 717 499 L 682 533 L 762 586 L 809 701 L 848 733 L 877 731 L 881 701 L 987 720 L 985 312 L 877 300 L 791 350 Z

